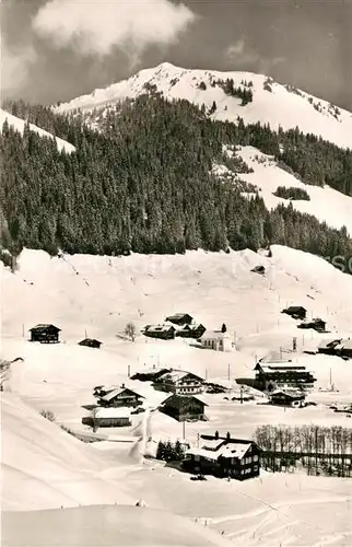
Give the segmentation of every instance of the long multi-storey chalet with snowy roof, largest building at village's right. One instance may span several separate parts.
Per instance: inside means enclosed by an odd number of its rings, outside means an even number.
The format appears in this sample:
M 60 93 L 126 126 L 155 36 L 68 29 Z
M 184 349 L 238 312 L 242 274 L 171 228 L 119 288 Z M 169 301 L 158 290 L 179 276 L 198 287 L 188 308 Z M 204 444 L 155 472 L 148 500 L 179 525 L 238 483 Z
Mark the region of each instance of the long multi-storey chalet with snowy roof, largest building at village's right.
M 272 392 L 280 387 L 309 389 L 316 379 L 302 364 L 291 361 L 259 361 L 256 366 L 256 383 L 259 389 Z

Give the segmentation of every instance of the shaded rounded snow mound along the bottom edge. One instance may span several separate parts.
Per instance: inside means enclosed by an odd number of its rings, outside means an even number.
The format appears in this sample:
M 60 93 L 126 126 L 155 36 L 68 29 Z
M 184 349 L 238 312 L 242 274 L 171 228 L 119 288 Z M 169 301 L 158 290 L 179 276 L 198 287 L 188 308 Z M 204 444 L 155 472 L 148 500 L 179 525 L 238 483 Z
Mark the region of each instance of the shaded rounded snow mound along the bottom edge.
M 228 547 L 201 524 L 150 508 L 95 505 L 4 513 L 3 547 Z

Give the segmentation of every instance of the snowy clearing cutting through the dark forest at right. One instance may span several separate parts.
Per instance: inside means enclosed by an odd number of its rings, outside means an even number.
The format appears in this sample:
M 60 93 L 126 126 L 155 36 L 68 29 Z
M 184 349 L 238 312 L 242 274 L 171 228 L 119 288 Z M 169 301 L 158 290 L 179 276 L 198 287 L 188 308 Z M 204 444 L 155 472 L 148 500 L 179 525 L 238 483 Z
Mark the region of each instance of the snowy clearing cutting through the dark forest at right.
M 331 228 L 348 229 L 352 234 L 352 197 L 345 196 L 329 186 L 312 186 L 302 183 L 294 174 L 281 168 L 274 158 L 260 152 L 254 147 L 236 147 L 236 152 L 226 150 L 232 156 L 242 158 L 253 173 L 244 173 L 235 176 L 225 165 L 215 165 L 213 173 L 220 178 L 233 178 L 245 181 L 254 185 L 260 191 L 268 209 L 275 208 L 279 203 L 292 202 L 294 209 L 313 214 L 320 222 L 326 222 Z M 303 188 L 309 196 L 309 200 L 288 200 L 274 196 L 277 188 Z

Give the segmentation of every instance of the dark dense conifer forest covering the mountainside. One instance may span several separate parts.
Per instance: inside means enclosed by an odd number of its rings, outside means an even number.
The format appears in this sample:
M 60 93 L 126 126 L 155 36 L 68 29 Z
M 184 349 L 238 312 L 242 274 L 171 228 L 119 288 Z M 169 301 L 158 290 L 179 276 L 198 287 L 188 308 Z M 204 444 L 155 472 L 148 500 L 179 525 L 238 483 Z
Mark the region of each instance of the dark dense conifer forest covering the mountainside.
M 72 143 L 3 125 L 1 246 L 50 254 L 184 253 L 282 244 L 320 256 L 352 256 L 347 230 L 280 206 L 268 211 L 259 195 L 212 175 L 223 144 L 254 146 L 272 154 L 307 184 L 329 184 L 352 195 L 352 152 L 298 129 L 279 132 L 259 124 L 210 120 L 187 101 L 143 95 L 110 108 L 98 129 L 83 115 L 56 115 L 22 102 L 8 112 Z M 234 162 L 235 165 L 235 162 Z M 238 163 L 238 176 L 243 170 Z

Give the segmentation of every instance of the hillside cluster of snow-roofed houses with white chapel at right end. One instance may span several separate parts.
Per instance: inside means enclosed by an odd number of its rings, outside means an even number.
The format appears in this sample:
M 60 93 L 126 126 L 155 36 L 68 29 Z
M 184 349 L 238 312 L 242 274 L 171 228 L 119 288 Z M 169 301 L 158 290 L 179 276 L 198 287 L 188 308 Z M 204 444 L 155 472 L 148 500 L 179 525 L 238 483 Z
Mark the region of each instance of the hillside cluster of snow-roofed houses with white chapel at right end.
M 207 330 L 187 313 L 176 313 L 165 318 L 162 325 L 146 325 L 142 333 L 150 338 L 172 340 L 176 337 L 197 340 L 204 349 L 231 351 L 232 340 L 226 330 Z

